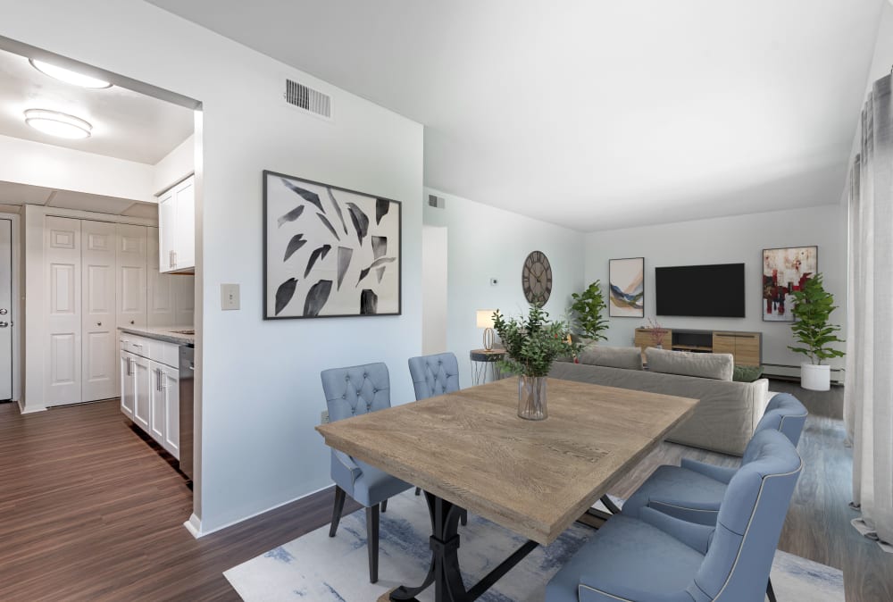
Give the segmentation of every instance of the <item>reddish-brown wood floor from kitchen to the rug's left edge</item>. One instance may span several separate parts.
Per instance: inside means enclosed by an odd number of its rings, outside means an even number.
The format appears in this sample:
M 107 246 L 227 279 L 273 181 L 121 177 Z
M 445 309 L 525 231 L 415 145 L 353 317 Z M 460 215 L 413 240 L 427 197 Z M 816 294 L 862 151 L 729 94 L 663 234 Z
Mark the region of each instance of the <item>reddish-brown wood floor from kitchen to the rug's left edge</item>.
M 158 449 L 116 401 L 0 404 L 0 600 L 238 600 L 223 571 L 330 520 L 325 491 L 194 539 Z

